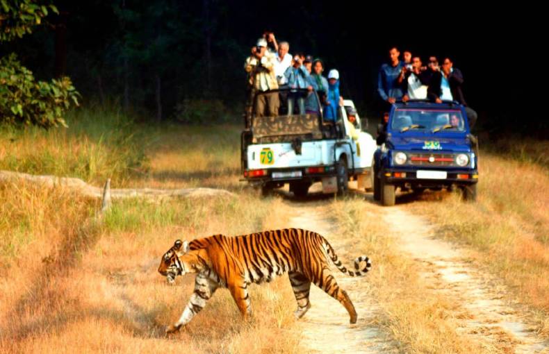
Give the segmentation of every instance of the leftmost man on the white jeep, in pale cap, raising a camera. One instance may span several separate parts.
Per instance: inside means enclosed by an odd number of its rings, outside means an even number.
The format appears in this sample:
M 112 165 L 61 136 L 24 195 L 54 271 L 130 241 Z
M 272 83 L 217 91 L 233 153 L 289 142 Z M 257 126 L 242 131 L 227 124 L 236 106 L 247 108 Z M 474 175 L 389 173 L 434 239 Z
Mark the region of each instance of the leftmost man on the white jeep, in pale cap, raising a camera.
M 277 90 L 279 87 L 277 78 L 274 76 L 274 56 L 267 51 L 267 41 L 264 38 L 259 38 L 256 47 L 252 48 L 252 56 L 246 59 L 244 69 L 248 73 L 248 84 L 250 86 L 248 109 L 251 117 L 255 93 Z M 278 92 L 261 94 L 255 102 L 256 116 L 277 116 L 279 106 Z

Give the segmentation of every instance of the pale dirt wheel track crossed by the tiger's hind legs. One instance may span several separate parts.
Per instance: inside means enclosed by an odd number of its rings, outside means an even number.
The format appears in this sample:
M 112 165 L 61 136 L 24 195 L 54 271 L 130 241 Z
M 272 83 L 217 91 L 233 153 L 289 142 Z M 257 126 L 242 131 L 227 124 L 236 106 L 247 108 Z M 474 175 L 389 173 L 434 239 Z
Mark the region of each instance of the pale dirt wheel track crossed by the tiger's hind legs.
M 329 209 L 312 206 L 312 203 L 288 204 L 290 217 L 288 227 L 312 230 L 326 237 L 334 247 L 338 258 L 347 265 L 359 254 L 349 254 L 344 243 L 338 239 L 336 226 L 329 221 Z M 372 264 L 375 267 L 375 264 Z M 358 321 L 349 324 L 349 314 L 334 298 L 311 286 L 311 309 L 300 319 L 302 345 L 313 353 L 395 353 L 393 344 L 386 335 L 371 323 L 381 312 L 370 296 L 368 276 L 352 278 L 335 267 L 334 276 L 349 297 L 358 313 Z

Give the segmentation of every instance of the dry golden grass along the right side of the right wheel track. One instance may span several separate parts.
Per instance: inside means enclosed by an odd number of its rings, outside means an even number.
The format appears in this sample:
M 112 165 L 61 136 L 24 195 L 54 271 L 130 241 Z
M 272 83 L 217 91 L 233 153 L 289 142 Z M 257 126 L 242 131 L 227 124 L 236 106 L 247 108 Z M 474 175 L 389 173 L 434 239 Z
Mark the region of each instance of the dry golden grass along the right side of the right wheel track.
M 549 337 L 548 170 L 488 153 L 481 159 L 477 203 L 463 203 L 457 193 L 427 193 L 408 207 L 436 222 L 441 237 L 473 246 L 477 264 L 532 306 L 539 332 Z

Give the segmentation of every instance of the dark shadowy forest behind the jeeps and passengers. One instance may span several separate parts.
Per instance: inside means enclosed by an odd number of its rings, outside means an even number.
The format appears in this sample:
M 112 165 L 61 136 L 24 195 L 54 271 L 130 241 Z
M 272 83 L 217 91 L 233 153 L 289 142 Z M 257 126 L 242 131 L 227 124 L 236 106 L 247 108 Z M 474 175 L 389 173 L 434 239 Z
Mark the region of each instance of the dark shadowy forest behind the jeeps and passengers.
M 210 106 L 214 116 L 240 121 L 243 63 L 269 30 L 290 42 L 290 53 L 311 54 L 326 69 L 338 69 L 342 94 L 370 117 L 379 112 L 377 71 L 396 45 L 424 62 L 450 56 L 464 73 L 466 99 L 479 113 L 481 130 L 548 134 L 546 117 L 530 110 L 535 100 L 543 102 L 543 90 L 532 90 L 532 83 L 547 60 L 530 63 L 538 50 L 528 44 L 539 33 L 530 28 L 537 19 L 521 10 L 429 3 L 365 9 L 370 3 L 334 1 L 54 3 L 59 15 L 3 44 L 0 55 L 16 52 L 37 78 L 70 76 L 84 105 L 110 104 L 151 121 L 184 121 Z

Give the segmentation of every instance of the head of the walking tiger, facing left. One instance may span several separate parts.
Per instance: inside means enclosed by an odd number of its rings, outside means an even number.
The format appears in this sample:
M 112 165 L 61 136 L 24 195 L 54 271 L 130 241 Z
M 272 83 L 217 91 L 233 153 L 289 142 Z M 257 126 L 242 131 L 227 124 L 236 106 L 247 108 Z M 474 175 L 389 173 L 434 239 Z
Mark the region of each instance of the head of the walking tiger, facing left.
M 197 273 L 207 267 L 204 249 L 190 251 L 187 241 L 178 239 L 162 256 L 158 273 L 166 277 L 167 283 L 174 285 L 175 277 L 186 273 Z

